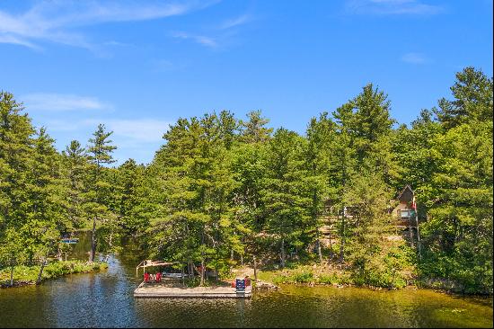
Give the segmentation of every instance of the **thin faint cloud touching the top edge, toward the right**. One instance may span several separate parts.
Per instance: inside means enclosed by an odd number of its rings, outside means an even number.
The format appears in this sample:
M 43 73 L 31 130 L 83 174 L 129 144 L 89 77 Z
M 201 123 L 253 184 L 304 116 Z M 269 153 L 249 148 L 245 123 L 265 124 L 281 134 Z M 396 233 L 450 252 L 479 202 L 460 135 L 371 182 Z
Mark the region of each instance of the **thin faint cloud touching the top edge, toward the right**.
M 346 9 L 350 13 L 381 15 L 430 15 L 445 10 L 441 5 L 420 0 L 348 0 Z

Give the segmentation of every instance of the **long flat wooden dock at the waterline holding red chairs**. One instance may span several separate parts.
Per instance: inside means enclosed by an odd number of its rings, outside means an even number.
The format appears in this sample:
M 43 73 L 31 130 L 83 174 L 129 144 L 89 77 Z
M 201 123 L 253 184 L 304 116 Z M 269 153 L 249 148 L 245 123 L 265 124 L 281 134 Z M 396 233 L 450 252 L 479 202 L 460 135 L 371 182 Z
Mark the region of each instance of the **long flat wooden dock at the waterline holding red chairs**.
M 236 291 L 231 287 L 182 288 L 164 283 L 139 284 L 135 298 L 251 298 L 251 289 Z

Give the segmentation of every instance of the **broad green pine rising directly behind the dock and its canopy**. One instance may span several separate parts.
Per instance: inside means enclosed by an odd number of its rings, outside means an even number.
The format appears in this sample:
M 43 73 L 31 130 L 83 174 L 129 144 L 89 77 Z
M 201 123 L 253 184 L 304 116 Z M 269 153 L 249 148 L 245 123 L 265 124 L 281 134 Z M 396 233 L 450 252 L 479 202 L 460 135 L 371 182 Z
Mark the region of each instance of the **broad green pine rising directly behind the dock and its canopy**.
M 166 195 L 158 200 L 154 244 L 189 263 L 190 272 L 192 263 L 200 262 L 201 285 L 206 266 L 225 271 L 229 251 L 238 249 L 229 200 L 234 181 L 228 147 L 233 136 L 225 134 L 232 127 L 226 112 L 220 118 L 212 114 L 178 120 L 164 135 L 167 143 L 152 164 L 161 185 L 156 188 Z

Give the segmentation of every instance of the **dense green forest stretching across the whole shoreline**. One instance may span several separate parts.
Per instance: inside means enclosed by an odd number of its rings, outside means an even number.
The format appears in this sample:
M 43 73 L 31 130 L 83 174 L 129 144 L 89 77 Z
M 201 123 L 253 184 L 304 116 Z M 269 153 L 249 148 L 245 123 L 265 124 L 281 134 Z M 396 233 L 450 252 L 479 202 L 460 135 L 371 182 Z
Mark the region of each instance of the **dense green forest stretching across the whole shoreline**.
M 288 281 L 402 287 L 419 278 L 492 293 L 492 78 L 466 67 L 451 90 L 410 128 L 394 127 L 373 84 L 310 120 L 305 136 L 268 128 L 260 111 L 182 118 L 151 164 L 117 167 L 103 125 L 87 147 L 72 141 L 60 154 L 0 93 L 2 267 L 39 263 L 41 277 L 60 236 L 90 228 L 90 261 L 134 236 L 200 284 L 255 256 L 261 267 L 331 268 L 283 274 Z M 393 228 L 390 200 L 406 184 L 426 219 L 420 241 Z

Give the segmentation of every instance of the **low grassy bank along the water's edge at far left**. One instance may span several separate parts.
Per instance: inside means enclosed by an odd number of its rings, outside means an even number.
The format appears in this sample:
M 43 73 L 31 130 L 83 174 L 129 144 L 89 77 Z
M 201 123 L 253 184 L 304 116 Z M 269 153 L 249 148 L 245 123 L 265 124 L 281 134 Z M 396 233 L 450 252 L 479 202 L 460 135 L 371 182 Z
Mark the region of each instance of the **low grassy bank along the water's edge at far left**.
M 90 271 L 100 271 L 108 268 L 105 262 L 82 262 L 82 261 L 60 261 L 50 262 L 45 266 L 41 280 L 54 279 L 62 275 L 71 273 L 85 273 Z M 6 288 L 10 286 L 10 268 L 0 270 L 0 286 Z M 13 286 L 23 286 L 36 284 L 40 266 L 16 266 L 13 269 Z

